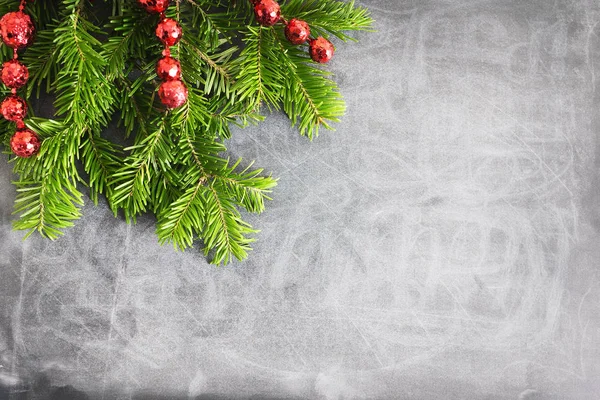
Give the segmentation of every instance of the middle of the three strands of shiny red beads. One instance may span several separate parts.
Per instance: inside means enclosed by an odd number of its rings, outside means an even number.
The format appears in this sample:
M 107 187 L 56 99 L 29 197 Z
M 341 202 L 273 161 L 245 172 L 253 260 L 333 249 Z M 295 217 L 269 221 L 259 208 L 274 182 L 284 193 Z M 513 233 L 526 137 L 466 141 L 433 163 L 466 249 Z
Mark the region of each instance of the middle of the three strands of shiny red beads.
M 187 101 L 188 90 L 181 81 L 181 64 L 171 57 L 169 47 L 176 45 L 181 39 L 181 25 L 165 16 L 170 0 L 138 0 L 138 3 L 146 11 L 160 14 L 156 36 L 165 45 L 165 49 L 162 52 L 163 58 L 156 64 L 156 74 L 163 81 L 158 88 L 158 97 L 167 108 L 180 107 Z

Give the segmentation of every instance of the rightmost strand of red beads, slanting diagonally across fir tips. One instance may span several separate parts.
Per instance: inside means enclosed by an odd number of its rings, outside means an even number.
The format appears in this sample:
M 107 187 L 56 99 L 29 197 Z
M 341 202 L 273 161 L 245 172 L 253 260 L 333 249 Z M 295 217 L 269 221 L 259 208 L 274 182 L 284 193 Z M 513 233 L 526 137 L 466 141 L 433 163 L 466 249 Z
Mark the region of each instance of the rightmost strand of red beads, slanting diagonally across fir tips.
M 322 36 L 310 37 L 310 27 L 305 21 L 292 18 L 286 21 L 281 16 L 281 9 L 275 0 L 250 0 L 254 5 L 254 15 L 259 24 L 273 26 L 278 22 L 285 25 L 285 37 L 292 44 L 303 44 L 308 40 L 308 51 L 313 61 L 326 63 L 333 57 L 333 44 Z

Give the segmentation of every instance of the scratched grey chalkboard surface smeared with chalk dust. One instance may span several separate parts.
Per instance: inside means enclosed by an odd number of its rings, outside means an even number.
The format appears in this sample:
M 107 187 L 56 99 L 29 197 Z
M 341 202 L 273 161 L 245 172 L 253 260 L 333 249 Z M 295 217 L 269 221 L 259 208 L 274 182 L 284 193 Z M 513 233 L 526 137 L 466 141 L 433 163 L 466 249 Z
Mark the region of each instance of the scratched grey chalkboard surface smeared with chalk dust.
M 338 131 L 229 144 L 281 178 L 244 263 L 89 201 L 22 243 L 2 157 L 0 396 L 600 398 L 599 3 L 361 3 Z

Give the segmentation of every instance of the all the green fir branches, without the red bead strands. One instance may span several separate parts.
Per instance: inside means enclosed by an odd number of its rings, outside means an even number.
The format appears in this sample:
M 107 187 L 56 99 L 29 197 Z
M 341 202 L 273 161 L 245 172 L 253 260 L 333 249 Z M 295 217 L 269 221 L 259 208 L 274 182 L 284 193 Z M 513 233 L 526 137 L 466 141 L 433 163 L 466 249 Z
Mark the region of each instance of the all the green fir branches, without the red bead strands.
M 348 31 L 370 30 L 372 23 L 352 1 L 281 4 L 286 17 L 306 20 L 315 35 L 354 40 Z M 0 0 L 2 14 L 17 7 L 17 0 Z M 14 227 L 26 236 L 62 235 L 80 217 L 80 190 L 87 186 L 94 203 L 103 195 L 128 222 L 154 213 L 160 243 L 181 250 L 198 245 L 215 264 L 244 259 L 257 231 L 241 211 L 263 212 L 276 180 L 222 156 L 232 124 L 261 121 L 266 105 L 282 109 L 313 139 L 345 110 L 330 73 L 310 60 L 307 46 L 290 45 L 281 25 L 258 26 L 248 0 L 178 0 L 168 9 L 183 27 L 171 52 L 189 88 L 187 104 L 172 111 L 156 94 L 157 15 L 135 0 L 36 1 L 27 12 L 38 33 L 20 55 L 30 69 L 24 95 L 54 96 L 55 119 L 28 118 L 44 139 L 41 151 L 11 159 L 19 175 Z M 4 45 L 1 53 L 12 56 Z M 107 135 L 113 121 L 127 145 Z M 0 125 L 6 146 L 15 127 Z

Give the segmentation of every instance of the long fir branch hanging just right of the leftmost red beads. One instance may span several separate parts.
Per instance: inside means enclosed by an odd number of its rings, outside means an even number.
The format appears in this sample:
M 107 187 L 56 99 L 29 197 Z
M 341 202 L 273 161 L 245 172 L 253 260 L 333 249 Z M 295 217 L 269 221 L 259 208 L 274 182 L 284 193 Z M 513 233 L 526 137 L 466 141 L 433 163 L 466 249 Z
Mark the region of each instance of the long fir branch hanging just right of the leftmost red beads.
M 61 64 L 53 89 L 56 114 L 64 118 L 68 134 L 63 146 L 40 157 L 46 168 L 62 164 L 67 176 L 76 176 L 73 159 L 80 159 L 89 176 L 90 197 L 97 202 L 99 193 L 110 194 L 107 179 L 118 164 L 115 147 L 99 136 L 111 120 L 115 90 L 105 76 L 108 63 L 97 38 L 102 31 L 85 18 L 85 1 L 64 0 L 63 5 L 63 19 L 53 31 L 56 63 Z

